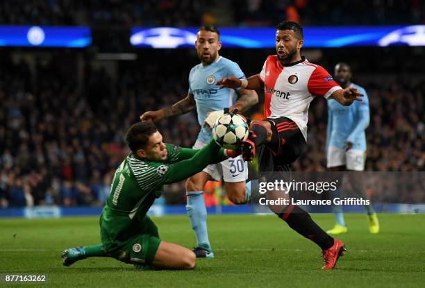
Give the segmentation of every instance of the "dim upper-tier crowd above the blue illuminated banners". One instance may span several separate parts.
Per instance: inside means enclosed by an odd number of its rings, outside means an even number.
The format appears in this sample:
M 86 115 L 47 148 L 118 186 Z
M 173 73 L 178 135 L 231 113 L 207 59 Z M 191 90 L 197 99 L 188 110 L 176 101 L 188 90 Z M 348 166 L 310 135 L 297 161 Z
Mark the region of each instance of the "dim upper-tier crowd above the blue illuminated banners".
M 346 13 L 349 11 L 350 13 Z M 19 25 L 269 26 L 424 24 L 425 3 L 308 0 L 34 0 L 1 1 L 2 23 Z M 348 15 L 347 15 L 348 14 Z

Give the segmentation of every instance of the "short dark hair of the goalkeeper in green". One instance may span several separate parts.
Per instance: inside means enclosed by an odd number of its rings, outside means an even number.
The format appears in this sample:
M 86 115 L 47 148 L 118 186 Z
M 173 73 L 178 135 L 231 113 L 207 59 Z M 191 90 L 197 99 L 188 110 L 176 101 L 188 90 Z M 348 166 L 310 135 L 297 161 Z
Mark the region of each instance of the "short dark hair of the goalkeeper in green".
M 126 144 L 130 147 L 133 153 L 137 153 L 139 149 L 146 146 L 149 141 L 149 137 L 151 137 L 153 133 L 156 133 L 156 131 L 158 131 L 158 128 L 156 128 L 153 122 L 135 123 L 128 128 L 125 137 Z

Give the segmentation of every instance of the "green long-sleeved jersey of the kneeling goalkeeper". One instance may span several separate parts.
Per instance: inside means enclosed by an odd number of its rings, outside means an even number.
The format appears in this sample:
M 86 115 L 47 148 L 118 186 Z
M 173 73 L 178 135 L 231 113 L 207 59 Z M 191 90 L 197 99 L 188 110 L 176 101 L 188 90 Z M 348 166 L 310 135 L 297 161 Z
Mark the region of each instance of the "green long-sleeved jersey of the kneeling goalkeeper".
M 133 219 L 143 217 L 163 191 L 163 185 L 184 180 L 202 171 L 208 164 L 226 159 L 223 149 L 211 141 L 201 150 L 166 144 L 167 160 L 141 160 L 133 153 L 119 165 L 105 210 Z

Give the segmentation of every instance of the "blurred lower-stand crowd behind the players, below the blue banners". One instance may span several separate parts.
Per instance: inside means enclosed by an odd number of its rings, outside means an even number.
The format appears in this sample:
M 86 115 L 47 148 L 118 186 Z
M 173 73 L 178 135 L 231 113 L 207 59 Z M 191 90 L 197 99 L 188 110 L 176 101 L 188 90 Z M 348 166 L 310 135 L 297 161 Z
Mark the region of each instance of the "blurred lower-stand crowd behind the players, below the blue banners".
M 113 171 L 128 153 L 122 141 L 126 128 L 141 112 L 171 105 L 187 93 L 191 65 L 185 57 L 175 57 L 168 69 L 155 60 L 127 62 L 113 74 L 89 60 L 70 64 L 78 62 L 75 55 L 51 55 L 31 64 L 1 55 L 1 207 L 102 205 Z M 359 83 L 371 105 L 366 170 L 423 171 L 425 82 L 373 81 Z M 308 151 L 294 169 L 325 169 L 326 115 L 326 101 L 313 101 Z M 194 114 L 158 126 L 167 142 L 188 147 L 199 131 Z M 166 189 L 178 192 L 167 194 L 167 203 L 183 203 L 183 183 Z M 424 202 L 418 193 L 415 201 Z

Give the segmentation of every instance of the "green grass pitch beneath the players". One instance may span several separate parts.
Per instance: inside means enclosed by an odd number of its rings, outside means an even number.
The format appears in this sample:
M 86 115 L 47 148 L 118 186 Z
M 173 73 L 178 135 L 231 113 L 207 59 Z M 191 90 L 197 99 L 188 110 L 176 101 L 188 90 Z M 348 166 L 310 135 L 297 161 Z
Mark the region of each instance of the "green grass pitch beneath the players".
M 378 216 L 381 232 L 371 235 L 364 214 L 346 215 L 349 233 L 340 238 L 348 251 L 333 271 L 320 269 L 315 244 L 272 216 L 210 216 L 216 257 L 197 260 L 193 271 L 136 271 L 100 257 L 65 267 L 64 248 L 99 244 L 97 217 L 1 219 L 0 273 L 48 276 L 33 287 L 424 287 L 425 215 Z M 333 226 L 331 214 L 313 218 L 325 229 Z M 187 217 L 153 221 L 165 241 L 194 245 Z

